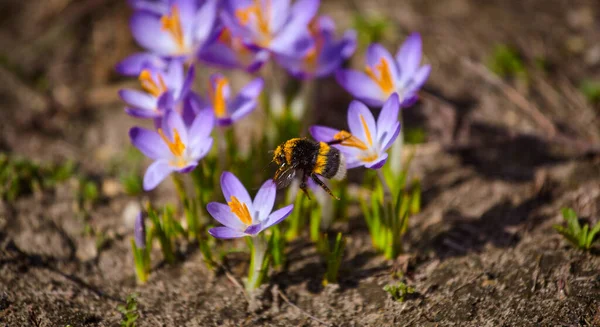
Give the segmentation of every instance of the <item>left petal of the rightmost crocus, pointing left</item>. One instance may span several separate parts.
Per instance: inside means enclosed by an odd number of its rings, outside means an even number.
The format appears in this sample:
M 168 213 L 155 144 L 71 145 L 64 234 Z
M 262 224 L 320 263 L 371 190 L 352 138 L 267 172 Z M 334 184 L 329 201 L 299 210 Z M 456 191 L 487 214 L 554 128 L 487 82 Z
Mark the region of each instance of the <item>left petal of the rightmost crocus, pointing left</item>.
M 365 73 L 356 70 L 339 70 L 335 78 L 346 91 L 370 106 L 380 107 L 387 99 L 379 85 Z

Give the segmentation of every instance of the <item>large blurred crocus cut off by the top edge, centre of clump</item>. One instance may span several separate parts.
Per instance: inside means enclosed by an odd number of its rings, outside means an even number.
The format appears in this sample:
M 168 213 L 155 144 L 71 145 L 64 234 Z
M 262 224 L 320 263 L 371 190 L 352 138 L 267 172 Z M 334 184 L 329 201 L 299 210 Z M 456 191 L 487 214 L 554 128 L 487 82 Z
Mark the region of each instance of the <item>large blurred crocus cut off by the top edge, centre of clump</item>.
M 319 0 L 227 0 L 221 20 L 247 46 L 301 56 L 311 47 L 308 23 Z

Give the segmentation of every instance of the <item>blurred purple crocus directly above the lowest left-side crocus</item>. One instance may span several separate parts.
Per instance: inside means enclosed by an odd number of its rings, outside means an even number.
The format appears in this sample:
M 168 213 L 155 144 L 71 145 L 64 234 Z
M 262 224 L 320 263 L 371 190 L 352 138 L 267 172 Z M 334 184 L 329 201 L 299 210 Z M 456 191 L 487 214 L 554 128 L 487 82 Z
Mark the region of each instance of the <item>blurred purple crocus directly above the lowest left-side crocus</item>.
M 138 118 L 160 118 L 166 109 L 175 109 L 191 123 L 193 111 L 184 108 L 184 100 L 189 95 L 194 81 L 194 67 L 184 76 L 183 63 L 172 60 L 166 69 L 146 65 L 139 74 L 142 91 L 124 89 L 119 91 L 121 99 L 127 103 L 125 111 Z

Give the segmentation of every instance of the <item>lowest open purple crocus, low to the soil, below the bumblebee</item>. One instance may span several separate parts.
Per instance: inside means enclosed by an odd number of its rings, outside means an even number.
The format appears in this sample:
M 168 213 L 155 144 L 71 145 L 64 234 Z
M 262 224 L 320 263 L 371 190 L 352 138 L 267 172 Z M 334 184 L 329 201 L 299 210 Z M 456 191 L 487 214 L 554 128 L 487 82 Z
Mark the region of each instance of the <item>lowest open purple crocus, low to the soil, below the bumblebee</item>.
M 210 215 L 223 224 L 208 231 L 216 238 L 255 236 L 283 221 L 294 208 L 290 204 L 271 212 L 277 193 L 273 180 L 266 181 L 260 187 L 254 201 L 240 180 L 230 172 L 221 175 L 221 189 L 227 204 L 211 202 L 206 206 Z

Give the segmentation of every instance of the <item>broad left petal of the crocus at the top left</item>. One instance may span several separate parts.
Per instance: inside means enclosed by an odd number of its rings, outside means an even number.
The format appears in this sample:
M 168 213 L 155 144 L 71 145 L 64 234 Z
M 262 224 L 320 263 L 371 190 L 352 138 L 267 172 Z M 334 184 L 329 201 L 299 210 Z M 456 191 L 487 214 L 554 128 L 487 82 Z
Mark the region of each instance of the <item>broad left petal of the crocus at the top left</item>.
M 131 17 L 130 28 L 133 38 L 140 46 L 159 56 L 172 55 L 178 51 L 171 35 L 162 29 L 159 15 L 136 11 Z

